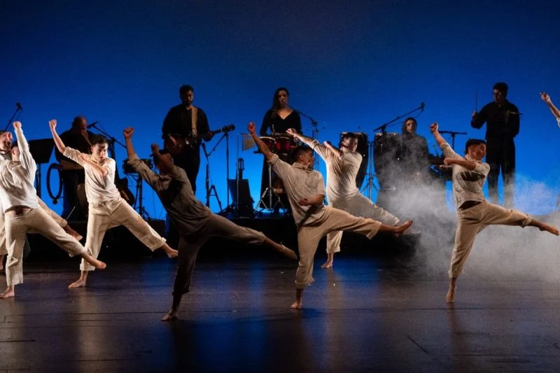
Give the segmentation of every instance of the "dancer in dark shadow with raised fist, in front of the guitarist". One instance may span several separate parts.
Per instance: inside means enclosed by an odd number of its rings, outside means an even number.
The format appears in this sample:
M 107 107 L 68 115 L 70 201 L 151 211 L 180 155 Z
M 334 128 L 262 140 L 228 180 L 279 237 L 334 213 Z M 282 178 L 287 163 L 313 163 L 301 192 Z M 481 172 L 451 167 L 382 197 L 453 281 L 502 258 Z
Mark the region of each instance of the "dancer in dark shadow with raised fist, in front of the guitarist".
M 279 251 L 288 258 L 297 259 L 297 255 L 286 246 L 276 244 L 261 232 L 246 227 L 239 227 L 230 220 L 210 211 L 195 197 L 185 170 L 175 166 L 167 150 L 160 152 L 156 144 L 152 145 L 153 160 L 160 174 L 155 174 L 144 162 L 139 160 L 132 145 L 134 129 L 125 129 L 129 164 L 158 193 L 163 206 L 174 223 L 179 227 L 179 267 L 173 287 L 172 308 L 162 318 L 171 321 L 177 318 L 183 294 L 188 293 L 190 279 L 195 269 L 198 251 L 210 237 L 224 237 L 248 244 L 266 245 Z

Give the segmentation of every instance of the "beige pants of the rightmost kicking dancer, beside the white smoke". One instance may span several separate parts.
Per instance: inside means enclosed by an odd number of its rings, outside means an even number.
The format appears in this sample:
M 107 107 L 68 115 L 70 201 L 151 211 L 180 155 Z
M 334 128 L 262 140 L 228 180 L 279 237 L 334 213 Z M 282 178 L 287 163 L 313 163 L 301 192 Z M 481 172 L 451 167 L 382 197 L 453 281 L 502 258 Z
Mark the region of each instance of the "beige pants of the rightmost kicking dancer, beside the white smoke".
M 470 207 L 470 209 L 458 209 L 457 220 L 455 246 L 449 267 L 449 278 L 451 279 L 456 279 L 461 274 L 472 245 L 475 243 L 475 237 L 487 225 L 526 227 L 531 223 L 531 216 L 518 210 L 505 209 L 497 204 L 484 201 Z

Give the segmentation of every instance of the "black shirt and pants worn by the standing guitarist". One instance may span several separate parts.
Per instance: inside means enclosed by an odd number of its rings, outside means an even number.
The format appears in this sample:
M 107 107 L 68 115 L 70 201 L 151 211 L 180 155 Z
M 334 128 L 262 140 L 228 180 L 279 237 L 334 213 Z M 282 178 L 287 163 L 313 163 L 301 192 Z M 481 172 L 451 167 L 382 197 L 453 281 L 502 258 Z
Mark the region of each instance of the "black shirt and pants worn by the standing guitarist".
M 193 110 L 187 109 L 185 104 L 179 104 L 169 109 L 169 113 L 165 116 L 162 126 L 163 136 L 193 136 Z M 197 108 L 197 137 L 204 136 L 210 131 L 208 118 L 201 108 Z M 183 152 L 173 157 L 174 164 L 187 173 L 193 192 L 196 193 L 197 176 L 200 168 L 200 141 L 194 141 L 190 146 L 186 146 Z

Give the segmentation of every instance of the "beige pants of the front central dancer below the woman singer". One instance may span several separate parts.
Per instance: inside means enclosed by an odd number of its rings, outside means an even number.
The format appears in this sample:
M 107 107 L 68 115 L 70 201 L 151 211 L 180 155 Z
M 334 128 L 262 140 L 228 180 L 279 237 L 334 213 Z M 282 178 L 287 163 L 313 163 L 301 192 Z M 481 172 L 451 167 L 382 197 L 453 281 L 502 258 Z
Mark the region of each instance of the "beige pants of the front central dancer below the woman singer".
M 336 231 L 355 232 L 374 237 L 381 227 L 381 222 L 373 219 L 358 218 L 346 211 L 325 207 L 321 218 L 310 225 L 297 230 L 297 246 L 300 251 L 300 263 L 295 272 L 295 288 L 303 289 L 313 282 L 313 259 L 317 245 L 325 234 Z

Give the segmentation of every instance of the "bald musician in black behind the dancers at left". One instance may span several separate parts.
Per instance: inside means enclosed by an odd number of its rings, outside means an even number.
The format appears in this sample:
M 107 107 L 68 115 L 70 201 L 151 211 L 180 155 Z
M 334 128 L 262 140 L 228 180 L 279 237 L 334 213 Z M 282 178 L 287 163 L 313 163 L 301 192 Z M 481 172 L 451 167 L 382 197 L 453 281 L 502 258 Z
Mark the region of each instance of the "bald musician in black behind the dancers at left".
M 82 153 L 90 153 L 90 136 L 93 133 L 87 131 L 87 119 L 83 115 L 78 115 L 72 121 L 72 127 L 60 134 L 60 139 L 68 144 L 71 148 L 80 150 Z M 87 213 L 84 206 L 86 201 L 78 198 L 78 189 L 84 188 L 85 173 L 79 164 L 69 160 L 55 148 L 55 157 L 62 164 L 62 186 L 64 190 L 64 205 L 62 207 L 62 216 L 66 216 L 70 220 L 85 220 Z M 72 209 L 76 209 L 73 211 Z

